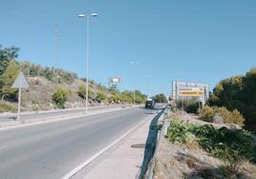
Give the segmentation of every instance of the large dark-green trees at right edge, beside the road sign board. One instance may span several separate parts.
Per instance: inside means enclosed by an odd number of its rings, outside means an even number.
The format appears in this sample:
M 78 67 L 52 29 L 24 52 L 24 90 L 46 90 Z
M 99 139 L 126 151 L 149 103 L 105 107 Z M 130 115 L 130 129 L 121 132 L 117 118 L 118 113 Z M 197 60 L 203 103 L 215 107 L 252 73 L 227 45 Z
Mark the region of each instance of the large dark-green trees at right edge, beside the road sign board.
M 245 117 L 245 129 L 256 132 L 256 68 L 245 76 L 224 79 L 213 89 L 210 106 L 237 109 Z

